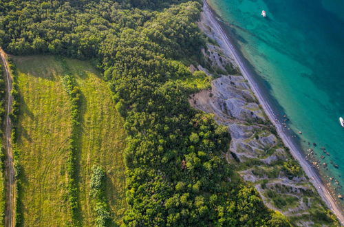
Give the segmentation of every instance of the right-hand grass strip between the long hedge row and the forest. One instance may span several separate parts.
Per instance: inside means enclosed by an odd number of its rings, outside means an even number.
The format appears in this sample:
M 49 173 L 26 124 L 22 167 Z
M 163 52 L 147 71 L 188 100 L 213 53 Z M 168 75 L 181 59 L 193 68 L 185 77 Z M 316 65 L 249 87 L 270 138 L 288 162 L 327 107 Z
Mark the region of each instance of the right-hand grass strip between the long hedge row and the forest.
M 95 201 L 89 195 L 92 166 L 102 166 L 106 175 L 106 194 L 115 223 L 126 208 L 125 149 L 123 120 L 115 109 L 111 91 L 99 73 L 86 61 L 67 60 L 69 74 L 81 91 L 79 155 L 79 197 L 83 226 L 94 226 Z

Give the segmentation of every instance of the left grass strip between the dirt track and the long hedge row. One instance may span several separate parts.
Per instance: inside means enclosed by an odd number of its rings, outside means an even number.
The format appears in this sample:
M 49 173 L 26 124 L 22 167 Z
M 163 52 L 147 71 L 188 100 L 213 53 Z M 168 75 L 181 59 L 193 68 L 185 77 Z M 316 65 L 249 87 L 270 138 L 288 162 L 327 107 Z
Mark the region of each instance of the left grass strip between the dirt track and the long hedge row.
M 61 226 L 69 221 L 65 172 L 71 114 L 61 84 L 62 66 L 52 56 L 14 58 L 21 107 L 18 142 L 23 166 L 25 226 Z

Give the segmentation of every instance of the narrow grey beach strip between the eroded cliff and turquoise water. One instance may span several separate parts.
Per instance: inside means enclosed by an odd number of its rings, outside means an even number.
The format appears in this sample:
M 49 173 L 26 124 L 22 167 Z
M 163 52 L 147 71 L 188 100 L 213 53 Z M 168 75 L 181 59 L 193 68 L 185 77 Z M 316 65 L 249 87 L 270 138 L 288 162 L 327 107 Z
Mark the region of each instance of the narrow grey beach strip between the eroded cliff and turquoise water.
M 313 186 L 316 188 L 316 191 L 318 191 L 319 195 L 325 202 L 328 208 L 332 210 L 334 215 L 336 215 L 337 219 L 341 222 L 342 225 L 344 225 L 344 216 L 341 212 L 341 208 L 338 207 L 336 204 L 336 201 L 334 197 L 330 194 L 330 191 L 328 191 L 327 187 L 323 183 L 323 180 L 321 180 L 321 177 L 319 173 L 317 173 L 316 170 L 313 169 L 313 167 L 308 163 L 307 160 L 305 160 L 305 155 L 297 147 L 297 145 L 292 141 L 292 138 L 290 138 L 286 132 L 283 131 L 281 125 L 279 125 L 277 122 L 275 122 L 275 118 L 277 116 L 274 114 L 274 111 L 270 107 L 268 100 L 266 100 L 266 97 L 264 96 L 263 92 L 261 91 L 260 87 L 255 82 L 255 78 L 253 78 L 252 74 L 248 72 L 247 66 L 244 63 L 241 54 L 239 53 L 239 50 L 233 45 L 232 42 L 230 42 L 230 39 L 228 38 L 228 35 L 224 31 L 224 28 L 222 28 L 222 25 L 217 21 L 215 18 L 215 12 L 213 12 L 213 9 L 209 4 L 204 1 L 203 6 L 204 14 L 206 14 L 206 17 L 208 17 L 208 20 L 211 21 L 211 29 L 215 31 L 219 36 L 222 37 L 224 44 L 221 46 L 225 52 L 229 52 L 231 56 L 235 59 L 235 62 L 237 63 L 237 66 L 239 67 L 241 73 L 243 74 L 244 78 L 248 80 L 248 83 L 250 85 L 250 88 L 254 92 L 256 98 L 259 100 L 259 104 L 263 107 L 266 116 L 268 116 L 270 122 L 272 122 L 273 125 L 275 125 L 277 129 L 277 133 L 283 143 L 290 149 L 290 154 L 292 157 L 299 162 L 301 165 L 303 171 L 305 171 L 305 174 L 308 175 L 310 178 L 309 181 L 313 184 Z

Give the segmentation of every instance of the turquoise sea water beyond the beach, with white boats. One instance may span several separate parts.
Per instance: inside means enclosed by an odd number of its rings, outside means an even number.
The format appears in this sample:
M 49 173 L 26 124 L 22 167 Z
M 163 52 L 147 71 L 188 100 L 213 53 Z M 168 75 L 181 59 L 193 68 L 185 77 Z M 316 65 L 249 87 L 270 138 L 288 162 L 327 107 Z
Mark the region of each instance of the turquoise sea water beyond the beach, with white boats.
M 262 81 L 278 114 L 287 114 L 292 131 L 302 131 L 297 136 L 303 149 L 312 147 L 319 160 L 325 155 L 321 163 L 326 162 L 328 170 L 321 167 L 321 171 L 344 185 L 344 128 L 338 120 L 344 118 L 344 1 L 209 3 Z M 267 18 L 261 17 L 261 10 Z M 336 192 L 344 194 L 343 188 Z

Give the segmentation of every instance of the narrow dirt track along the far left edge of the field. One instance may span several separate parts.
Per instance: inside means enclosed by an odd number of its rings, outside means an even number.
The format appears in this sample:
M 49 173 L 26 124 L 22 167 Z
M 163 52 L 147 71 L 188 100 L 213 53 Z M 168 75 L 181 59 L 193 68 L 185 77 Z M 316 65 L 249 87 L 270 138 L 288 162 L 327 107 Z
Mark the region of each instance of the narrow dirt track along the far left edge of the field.
M 10 70 L 6 61 L 6 54 L 0 47 L 1 60 L 3 63 L 3 71 L 6 74 L 6 119 L 5 119 L 5 133 L 6 140 L 6 172 L 7 172 L 7 186 L 6 186 L 6 210 L 5 210 L 5 226 L 14 226 L 14 204 L 15 204 L 15 181 L 14 181 L 14 165 L 13 165 L 13 152 L 11 146 L 11 119 L 10 111 L 12 107 L 12 80 L 10 77 Z

